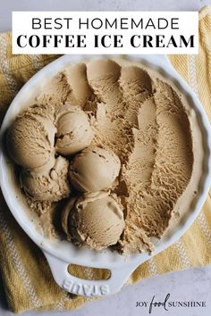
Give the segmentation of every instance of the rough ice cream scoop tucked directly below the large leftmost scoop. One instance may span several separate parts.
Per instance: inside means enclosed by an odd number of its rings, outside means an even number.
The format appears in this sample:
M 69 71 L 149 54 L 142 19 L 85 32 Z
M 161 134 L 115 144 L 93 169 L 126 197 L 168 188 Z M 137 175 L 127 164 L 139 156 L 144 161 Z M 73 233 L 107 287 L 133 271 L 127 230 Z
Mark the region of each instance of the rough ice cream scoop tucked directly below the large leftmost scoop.
M 59 201 L 70 194 L 68 168 L 68 160 L 59 156 L 54 167 L 43 174 L 22 169 L 21 187 L 32 200 Z

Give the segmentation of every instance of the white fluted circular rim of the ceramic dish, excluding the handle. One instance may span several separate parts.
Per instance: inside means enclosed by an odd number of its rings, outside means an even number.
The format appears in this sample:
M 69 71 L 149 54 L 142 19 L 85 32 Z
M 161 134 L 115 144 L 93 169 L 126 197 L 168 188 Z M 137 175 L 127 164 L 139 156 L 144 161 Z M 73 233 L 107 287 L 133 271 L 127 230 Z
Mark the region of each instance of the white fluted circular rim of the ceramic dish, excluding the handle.
M 125 55 L 123 55 L 125 56 Z M 88 265 L 96 268 L 112 268 L 116 266 L 121 266 L 122 264 L 134 264 L 137 265 L 141 262 L 147 261 L 152 255 L 158 254 L 161 251 L 165 250 L 169 245 L 172 245 L 176 240 L 178 240 L 183 233 L 189 229 L 192 222 L 198 216 L 202 204 L 205 202 L 207 198 L 208 189 L 211 185 L 211 129 L 207 119 L 207 114 L 200 104 L 198 97 L 192 91 L 192 89 L 188 86 L 188 84 L 181 78 L 179 73 L 173 69 L 173 66 L 166 59 L 164 55 L 126 55 L 130 60 L 134 60 L 136 62 L 143 62 L 148 67 L 151 68 L 159 68 L 165 73 L 165 76 L 173 80 L 177 87 L 181 90 L 181 93 L 186 95 L 198 114 L 198 120 L 201 122 L 201 130 L 204 135 L 204 148 L 206 148 L 207 154 L 204 155 L 204 173 L 201 178 L 203 178 L 203 186 L 200 190 L 200 195 L 198 195 L 198 199 L 194 205 L 193 211 L 191 211 L 187 220 L 183 223 L 183 225 L 173 231 L 171 237 L 165 240 L 162 240 L 156 246 L 155 251 L 152 254 L 132 254 L 129 258 L 125 258 L 120 254 L 112 253 L 110 250 L 105 250 L 102 252 L 95 252 L 86 248 L 78 249 L 72 245 L 72 252 L 68 252 L 68 254 L 63 254 L 63 251 L 66 249 L 68 242 L 58 241 L 56 243 L 51 243 L 45 237 L 41 236 L 41 234 L 36 231 L 36 229 L 31 230 L 30 220 L 22 218 L 18 213 L 17 204 L 15 204 L 15 200 L 13 197 L 11 187 L 8 185 L 8 177 L 5 170 L 5 156 L 3 149 L 3 138 L 4 131 L 7 128 L 8 121 L 10 119 L 11 113 L 13 112 L 16 104 L 19 104 L 21 97 L 29 90 L 30 88 L 38 86 L 40 80 L 45 78 L 51 78 L 57 72 L 61 71 L 65 66 L 67 66 L 70 62 L 80 62 L 83 59 L 99 59 L 99 58 L 122 58 L 122 55 L 63 55 L 59 57 L 54 62 L 50 62 L 40 71 L 38 71 L 31 79 L 29 79 L 26 84 L 21 87 L 19 93 L 14 97 L 13 102 L 9 106 L 5 116 L 4 121 L 2 123 L 1 131 L 0 131 L 0 184 L 2 187 L 2 192 L 4 195 L 4 199 L 6 204 L 8 205 L 10 211 L 13 213 L 13 217 L 18 221 L 21 228 L 27 233 L 27 235 L 47 254 L 52 254 L 58 259 L 63 260 L 64 262 L 72 262 L 80 265 Z M 17 109 L 16 109 L 17 110 Z M 6 184 L 6 185 L 5 185 Z M 17 203 L 17 201 L 16 201 Z M 61 244 L 63 243 L 63 245 Z M 93 253 L 94 252 L 94 253 Z M 71 255 L 70 255 L 71 254 Z

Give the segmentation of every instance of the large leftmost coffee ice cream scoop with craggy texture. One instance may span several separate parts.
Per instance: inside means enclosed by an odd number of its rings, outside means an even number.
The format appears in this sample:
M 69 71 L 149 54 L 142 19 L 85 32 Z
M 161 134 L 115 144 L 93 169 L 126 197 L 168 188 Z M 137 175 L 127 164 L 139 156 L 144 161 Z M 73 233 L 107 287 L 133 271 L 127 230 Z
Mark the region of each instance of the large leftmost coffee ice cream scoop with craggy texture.
M 45 116 L 29 108 L 13 122 L 6 144 L 14 162 L 24 168 L 45 169 L 54 163 L 55 125 Z

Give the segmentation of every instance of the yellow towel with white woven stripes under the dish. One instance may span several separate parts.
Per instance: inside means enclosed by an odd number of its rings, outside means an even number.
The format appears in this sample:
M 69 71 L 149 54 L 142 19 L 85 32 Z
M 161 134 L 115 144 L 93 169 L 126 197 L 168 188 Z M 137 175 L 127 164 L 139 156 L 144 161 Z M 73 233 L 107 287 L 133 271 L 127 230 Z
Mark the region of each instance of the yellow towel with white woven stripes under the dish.
M 211 118 L 211 8 L 199 13 L 199 54 L 171 55 L 170 61 L 198 94 Z M 0 119 L 20 87 L 55 55 L 13 55 L 11 34 L 0 34 Z M 13 220 L 0 196 L 0 268 L 10 309 L 63 310 L 79 308 L 90 299 L 70 295 L 57 287 L 44 255 Z M 211 199 L 210 195 L 198 219 L 181 239 L 141 264 L 130 278 L 133 284 L 141 279 L 172 270 L 183 270 L 211 263 Z M 87 278 L 93 272 L 80 270 Z

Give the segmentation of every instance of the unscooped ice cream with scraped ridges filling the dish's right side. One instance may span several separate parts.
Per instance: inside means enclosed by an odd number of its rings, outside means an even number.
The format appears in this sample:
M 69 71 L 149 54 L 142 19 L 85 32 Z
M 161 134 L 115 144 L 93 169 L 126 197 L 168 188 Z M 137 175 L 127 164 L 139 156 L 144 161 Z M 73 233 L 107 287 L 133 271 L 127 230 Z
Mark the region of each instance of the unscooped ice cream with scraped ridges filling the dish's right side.
M 122 162 L 115 193 L 125 201 L 127 215 L 119 251 L 152 250 L 151 237 L 162 237 L 191 178 L 185 101 L 156 71 L 139 63 L 88 62 L 87 74 L 101 104 L 93 144 L 111 148 Z

